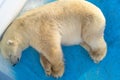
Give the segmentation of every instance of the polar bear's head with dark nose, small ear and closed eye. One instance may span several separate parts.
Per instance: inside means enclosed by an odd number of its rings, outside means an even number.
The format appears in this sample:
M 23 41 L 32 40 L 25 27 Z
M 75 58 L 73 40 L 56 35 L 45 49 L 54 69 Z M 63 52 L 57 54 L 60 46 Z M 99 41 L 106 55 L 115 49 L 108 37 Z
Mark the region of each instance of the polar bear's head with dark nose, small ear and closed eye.
M 5 34 L 0 41 L 0 53 L 12 65 L 19 62 L 23 50 L 22 40 L 16 34 Z

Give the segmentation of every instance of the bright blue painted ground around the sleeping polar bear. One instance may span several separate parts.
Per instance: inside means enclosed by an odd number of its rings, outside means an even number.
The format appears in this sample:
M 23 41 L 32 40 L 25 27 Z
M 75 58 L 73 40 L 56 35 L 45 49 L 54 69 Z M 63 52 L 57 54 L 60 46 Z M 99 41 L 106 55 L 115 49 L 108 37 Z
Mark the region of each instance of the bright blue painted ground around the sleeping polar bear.
M 63 46 L 66 67 L 63 77 L 58 80 L 120 80 L 120 0 L 89 1 L 103 11 L 107 20 L 107 56 L 101 63 L 94 64 L 79 45 Z M 14 70 L 17 80 L 56 80 L 46 77 L 39 63 L 39 55 L 31 47 L 23 52 L 22 59 Z

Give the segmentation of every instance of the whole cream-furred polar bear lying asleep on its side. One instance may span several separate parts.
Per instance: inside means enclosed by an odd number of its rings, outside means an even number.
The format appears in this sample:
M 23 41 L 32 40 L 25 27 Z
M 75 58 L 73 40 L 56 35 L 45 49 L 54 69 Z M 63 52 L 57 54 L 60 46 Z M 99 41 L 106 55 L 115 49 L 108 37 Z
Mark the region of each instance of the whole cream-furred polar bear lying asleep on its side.
M 80 44 L 94 62 L 100 62 L 107 51 L 104 29 L 105 17 L 92 3 L 84 0 L 55 1 L 14 20 L 0 42 L 0 51 L 16 64 L 21 52 L 32 46 L 40 53 L 46 74 L 61 77 L 64 73 L 61 44 Z

